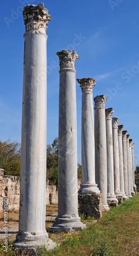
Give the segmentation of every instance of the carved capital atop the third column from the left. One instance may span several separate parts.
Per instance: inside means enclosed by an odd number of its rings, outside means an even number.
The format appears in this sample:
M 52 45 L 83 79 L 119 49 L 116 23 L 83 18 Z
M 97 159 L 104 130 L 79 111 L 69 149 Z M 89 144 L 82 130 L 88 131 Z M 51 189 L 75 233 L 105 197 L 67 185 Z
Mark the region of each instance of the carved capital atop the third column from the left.
M 78 83 L 80 83 L 81 92 L 87 93 L 93 91 L 93 87 L 96 85 L 95 79 L 93 78 L 82 78 L 82 79 L 76 79 Z

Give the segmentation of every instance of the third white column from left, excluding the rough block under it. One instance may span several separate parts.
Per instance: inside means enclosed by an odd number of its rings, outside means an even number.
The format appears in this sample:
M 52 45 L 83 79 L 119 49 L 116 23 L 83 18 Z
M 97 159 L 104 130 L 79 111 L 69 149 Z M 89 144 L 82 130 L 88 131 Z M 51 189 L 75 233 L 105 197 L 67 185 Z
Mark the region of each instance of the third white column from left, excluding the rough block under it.
M 81 170 L 82 184 L 79 193 L 100 193 L 95 182 L 95 138 L 94 138 L 94 112 L 93 87 L 95 79 L 77 79 L 82 91 L 81 111 Z

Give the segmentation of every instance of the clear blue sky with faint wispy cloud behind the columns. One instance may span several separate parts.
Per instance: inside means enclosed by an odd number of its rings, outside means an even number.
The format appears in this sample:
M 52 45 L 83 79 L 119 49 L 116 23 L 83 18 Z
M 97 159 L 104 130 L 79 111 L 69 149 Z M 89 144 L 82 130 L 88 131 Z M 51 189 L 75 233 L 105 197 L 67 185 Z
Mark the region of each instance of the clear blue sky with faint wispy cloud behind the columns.
M 76 78 L 96 80 L 93 97 L 105 94 L 105 106 L 130 134 L 134 163 L 139 165 L 139 2 L 136 0 L 43 1 L 49 10 L 47 39 L 47 144 L 58 137 L 59 58 L 76 50 Z M 14 0 L 1 6 L 0 139 L 21 141 L 23 6 L 36 0 Z M 76 82 L 78 162 L 81 163 L 81 89 Z

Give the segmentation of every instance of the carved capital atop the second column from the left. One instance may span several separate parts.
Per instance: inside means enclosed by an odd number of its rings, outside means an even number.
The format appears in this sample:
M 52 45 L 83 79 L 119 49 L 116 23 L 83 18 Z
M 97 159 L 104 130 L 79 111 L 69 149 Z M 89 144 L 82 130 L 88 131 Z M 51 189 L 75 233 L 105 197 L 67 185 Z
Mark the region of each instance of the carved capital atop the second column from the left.
M 57 52 L 60 59 L 60 69 L 75 69 L 75 60 L 79 58 L 79 55 L 74 50 L 62 50 Z

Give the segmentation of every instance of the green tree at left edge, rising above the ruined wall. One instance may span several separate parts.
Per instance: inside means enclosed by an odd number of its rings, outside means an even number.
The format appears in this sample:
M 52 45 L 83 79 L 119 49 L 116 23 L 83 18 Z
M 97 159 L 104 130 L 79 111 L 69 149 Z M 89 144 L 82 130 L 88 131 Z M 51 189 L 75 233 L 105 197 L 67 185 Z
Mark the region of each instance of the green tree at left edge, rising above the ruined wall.
M 11 141 L 0 140 L 0 168 L 4 169 L 4 175 L 20 176 L 21 144 Z

